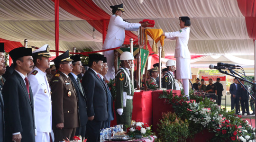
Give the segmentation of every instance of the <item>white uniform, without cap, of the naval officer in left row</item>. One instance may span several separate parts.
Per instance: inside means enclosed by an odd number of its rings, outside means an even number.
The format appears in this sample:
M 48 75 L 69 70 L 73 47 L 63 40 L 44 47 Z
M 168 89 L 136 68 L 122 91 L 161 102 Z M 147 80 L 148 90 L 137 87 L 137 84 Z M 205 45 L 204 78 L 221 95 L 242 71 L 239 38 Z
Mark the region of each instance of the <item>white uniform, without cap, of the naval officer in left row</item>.
M 36 66 L 27 74 L 34 98 L 34 114 L 36 125 L 36 142 L 50 142 L 52 132 L 52 100 L 51 90 L 46 72 Z

